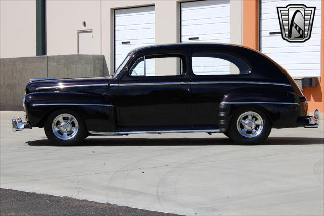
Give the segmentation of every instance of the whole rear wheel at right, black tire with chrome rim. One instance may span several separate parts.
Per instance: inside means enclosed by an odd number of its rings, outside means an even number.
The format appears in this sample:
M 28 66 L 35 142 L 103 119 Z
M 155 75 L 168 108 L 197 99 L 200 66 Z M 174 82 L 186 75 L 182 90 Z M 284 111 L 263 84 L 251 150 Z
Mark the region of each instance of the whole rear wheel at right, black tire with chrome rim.
M 249 118 L 250 116 L 248 114 L 256 115 L 250 115 L 251 118 Z M 253 121 L 252 124 L 250 123 L 250 119 Z M 244 124 L 241 122 L 244 122 Z M 249 127 L 249 125 L 252 126 Z M 238 144 L 259 144 L 268 138 L 271 127 L 272 123 L 263 111 L 255 107 L 246 107 L 234 114 L 228 132 L 233 141 Z M 249 131 L 249 129 L 251 130 Z

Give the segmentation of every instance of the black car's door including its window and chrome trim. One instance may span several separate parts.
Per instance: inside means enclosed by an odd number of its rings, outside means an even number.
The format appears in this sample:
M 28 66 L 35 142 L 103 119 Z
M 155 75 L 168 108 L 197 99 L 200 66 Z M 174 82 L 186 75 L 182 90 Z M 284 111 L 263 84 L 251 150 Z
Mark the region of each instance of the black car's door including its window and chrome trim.
M 184 53 L 142 55 L 119 81 L 119 130 L 191 129 L 190 76 Z

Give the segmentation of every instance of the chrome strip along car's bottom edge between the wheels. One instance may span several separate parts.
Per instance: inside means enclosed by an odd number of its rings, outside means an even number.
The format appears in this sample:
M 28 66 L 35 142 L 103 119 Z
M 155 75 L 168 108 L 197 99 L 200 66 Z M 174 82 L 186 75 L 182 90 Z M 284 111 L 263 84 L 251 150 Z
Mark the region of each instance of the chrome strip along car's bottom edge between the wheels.
M 93 135 L 127 135 L 127 134 L 140 134 L 140 133 L 218 133 L 219 129 L 211 130 L 149 130 L 149 131 L 125 131 L 125 132 L 96 132 L 88 131 Z

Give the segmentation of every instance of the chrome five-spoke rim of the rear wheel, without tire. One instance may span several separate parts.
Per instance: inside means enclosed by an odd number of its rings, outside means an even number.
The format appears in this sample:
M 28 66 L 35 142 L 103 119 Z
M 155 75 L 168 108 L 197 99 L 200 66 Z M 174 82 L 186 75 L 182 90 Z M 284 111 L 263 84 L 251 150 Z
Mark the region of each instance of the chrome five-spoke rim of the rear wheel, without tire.
M 245 112 L 238 117 L 236 127 L 242 136 L 253 138 L 262 132 L 263 119 L 256 112 Z

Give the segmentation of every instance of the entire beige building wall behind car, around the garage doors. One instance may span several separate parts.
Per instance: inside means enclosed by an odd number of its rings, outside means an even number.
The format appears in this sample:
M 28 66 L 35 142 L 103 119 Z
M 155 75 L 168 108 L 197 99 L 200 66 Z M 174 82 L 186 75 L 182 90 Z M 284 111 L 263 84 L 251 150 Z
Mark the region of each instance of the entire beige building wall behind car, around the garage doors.
M 1 57 L 36 55 L 35 0 L 1 2 Z M 155 44 L 180 41 L 180 0 L 47 0 L 47 55 L 77 54 L 80 30 L 92 30 L 93 54 L 105 55 L 114 67 L 114 9 L 155 6 Z M 230 0 L 231 43 L 241 44 L 242 3 Z M 19 19 L 17 19 L 17 17 Z M 86 26 L 82 22 L 86 22 Z M 178 63 L 169 64 L 170 68 Z M 157 63 L 157 67 L 160 67 Z M 165 64 L 164 64 L 165 66 Z M 164 69 L 167 70 L 167 69 Z M 157 71 L 161 71 L 157 69 Z

